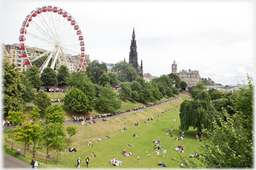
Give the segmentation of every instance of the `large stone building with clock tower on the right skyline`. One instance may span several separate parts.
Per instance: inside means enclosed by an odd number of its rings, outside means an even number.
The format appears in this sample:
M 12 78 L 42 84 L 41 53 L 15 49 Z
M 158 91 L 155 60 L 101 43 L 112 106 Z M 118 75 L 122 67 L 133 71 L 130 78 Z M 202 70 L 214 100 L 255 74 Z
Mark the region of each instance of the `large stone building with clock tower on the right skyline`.
M 185 81 L 187 83 L 188 87 L 196 86 L 197 83 L 201 82 L 199 70 L 193 71 L 191 69 L 188 69 L 188 71 L 180 70 L 180 72 L 178 72 L 177 70 L 178 70 L 178 66 L 174 60 L 174 63 L 172 64 L 172 73 L 177 74 L 180 77 L 181 81 Z

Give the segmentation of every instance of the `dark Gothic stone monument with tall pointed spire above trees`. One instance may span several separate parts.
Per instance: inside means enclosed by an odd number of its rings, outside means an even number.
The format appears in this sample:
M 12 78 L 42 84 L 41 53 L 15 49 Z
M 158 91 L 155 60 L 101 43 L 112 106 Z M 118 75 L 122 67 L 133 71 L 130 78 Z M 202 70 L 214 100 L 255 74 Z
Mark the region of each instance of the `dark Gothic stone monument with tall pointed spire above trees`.
M 125 61 L 125 59 L 124 59 L 124 61 Z M 136 45 L 136 40 L 135 40 L 134 28 L 133 28 L 133 35 L 132 35 L 131 45 L 130 45 L 129 63 L 132 64 L 132 66 L 135 68 L 138 76 L 143 77 L 142 61 L 141 61 L 140 66 L 137 63 L 137 45 Z

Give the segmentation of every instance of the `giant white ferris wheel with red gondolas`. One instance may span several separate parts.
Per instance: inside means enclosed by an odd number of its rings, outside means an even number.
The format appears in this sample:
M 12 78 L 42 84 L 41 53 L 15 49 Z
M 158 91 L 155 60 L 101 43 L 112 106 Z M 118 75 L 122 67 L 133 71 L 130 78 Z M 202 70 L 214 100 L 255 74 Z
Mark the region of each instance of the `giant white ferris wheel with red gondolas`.
M 19 41 L 23 64 L 29 68 L 34 61 L 39 60 L 40 74 L 47 66 L 54 69 L 56 63 L 59 67 L 67 66 L 69 72 L 81 71 L 84 67 L 82 31 L 75 19 L 62 8 L 48 5 L 31 11 L 23 21 Z M 44 49 L 44 53 L 30 60 L 31 49 Z M 77 60 L 79 54 L 80 61 Z M 47 55 L 47 59 L 40 60 L 44 55 Z

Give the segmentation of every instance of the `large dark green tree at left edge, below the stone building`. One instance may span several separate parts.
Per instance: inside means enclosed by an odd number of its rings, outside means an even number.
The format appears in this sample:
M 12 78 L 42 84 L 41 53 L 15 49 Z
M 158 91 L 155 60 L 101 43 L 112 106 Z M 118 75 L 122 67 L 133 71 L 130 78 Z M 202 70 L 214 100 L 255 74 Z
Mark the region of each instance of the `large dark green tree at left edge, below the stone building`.
M 4 60 L 4 113 L 9 110 L 24 110 L 24 100 L 22 95 L 25 93 L 25 86 L 21 83 L 24 74 L 18 71 L 16 64 L 8 64 Z

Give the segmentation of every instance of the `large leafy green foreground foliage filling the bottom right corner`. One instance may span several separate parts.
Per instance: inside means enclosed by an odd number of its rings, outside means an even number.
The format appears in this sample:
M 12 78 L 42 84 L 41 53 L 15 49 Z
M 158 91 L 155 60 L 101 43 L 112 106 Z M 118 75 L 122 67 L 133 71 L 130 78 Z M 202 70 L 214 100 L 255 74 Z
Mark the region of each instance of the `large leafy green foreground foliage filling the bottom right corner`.
M 199 157 L 201 165 L 197 165 L 185 158 L 185 168 L 252 168 L 253 160 L 253 90 L 252 78 L 247 76 L 248 89 L 240 87 L 232 95 L 232 116 L 223 109 L 226 121 L 219 117 L 220 125 L 213 122 L 214 130 L 204 129 L 208 139 L 200 142 Z M 221 100 L 221 99 L 219 99 Z

